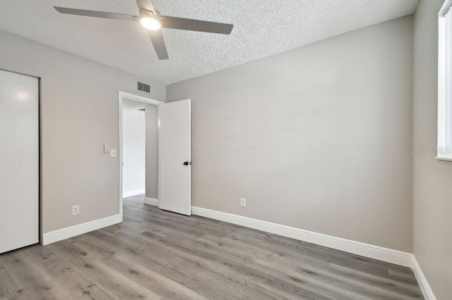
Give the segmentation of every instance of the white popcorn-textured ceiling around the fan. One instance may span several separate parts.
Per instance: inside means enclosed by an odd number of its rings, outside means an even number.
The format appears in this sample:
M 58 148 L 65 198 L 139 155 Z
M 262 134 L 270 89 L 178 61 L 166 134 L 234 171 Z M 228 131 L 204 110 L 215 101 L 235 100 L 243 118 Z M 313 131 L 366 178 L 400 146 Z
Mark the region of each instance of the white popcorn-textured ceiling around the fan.
M 138 15 L 135 0 L 0 0 L 0 29 L 169 84 L 410 15 L 417 0 L 154 0 L 162 15 L 234 24 L 231 35 L 164 29 L 159 61 L 139 23 L 53 6 Z

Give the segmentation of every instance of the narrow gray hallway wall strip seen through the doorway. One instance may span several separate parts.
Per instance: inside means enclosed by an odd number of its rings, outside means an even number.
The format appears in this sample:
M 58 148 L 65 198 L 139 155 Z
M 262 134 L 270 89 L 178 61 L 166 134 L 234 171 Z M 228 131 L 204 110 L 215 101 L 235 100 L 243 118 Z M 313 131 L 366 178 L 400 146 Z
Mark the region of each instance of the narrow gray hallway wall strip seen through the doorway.
M 158 106 L 147 104 L 146 123 L 146 195 L 157 199 L 158 188 Z

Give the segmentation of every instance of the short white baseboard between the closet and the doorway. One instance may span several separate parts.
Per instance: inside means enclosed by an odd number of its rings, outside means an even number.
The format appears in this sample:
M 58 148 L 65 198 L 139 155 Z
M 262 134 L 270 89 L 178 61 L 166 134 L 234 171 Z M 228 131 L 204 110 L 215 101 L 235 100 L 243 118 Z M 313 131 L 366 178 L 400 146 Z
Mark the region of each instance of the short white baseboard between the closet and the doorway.
M 71 227 L 66 227 L 60 230 L 55 230 L 52 232 L 47 232 L 42 235 L 42 244 L 52 244 L 54 242 L 59 242 L 63 239 L 69 239 L 70 237 L 76 237 L 77 235 L 83 235 L 83 233 L 91 232 L 93 230 L 98 230 L 103 227 L 114 225 L 122 222 L 121 215 L 112 215 L 107 218 L 102 218 L 99 220 L 90 221 L 80 225 L 75 225 Z

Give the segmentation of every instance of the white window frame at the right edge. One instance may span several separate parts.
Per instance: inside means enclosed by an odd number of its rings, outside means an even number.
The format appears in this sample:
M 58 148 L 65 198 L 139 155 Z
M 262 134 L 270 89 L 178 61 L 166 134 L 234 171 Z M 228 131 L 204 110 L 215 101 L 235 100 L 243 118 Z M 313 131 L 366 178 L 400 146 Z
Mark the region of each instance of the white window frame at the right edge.
M 436 159 L 452 161 L 452 0 L 438 14 L 438 144 Z

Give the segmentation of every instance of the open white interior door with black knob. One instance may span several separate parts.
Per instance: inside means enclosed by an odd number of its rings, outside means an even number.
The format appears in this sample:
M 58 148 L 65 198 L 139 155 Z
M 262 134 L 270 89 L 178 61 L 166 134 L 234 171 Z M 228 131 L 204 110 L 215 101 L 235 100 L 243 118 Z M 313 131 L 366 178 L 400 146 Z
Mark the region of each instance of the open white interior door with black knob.
M 190 100 L 160 104 L 159 207 L 191 215 Z

